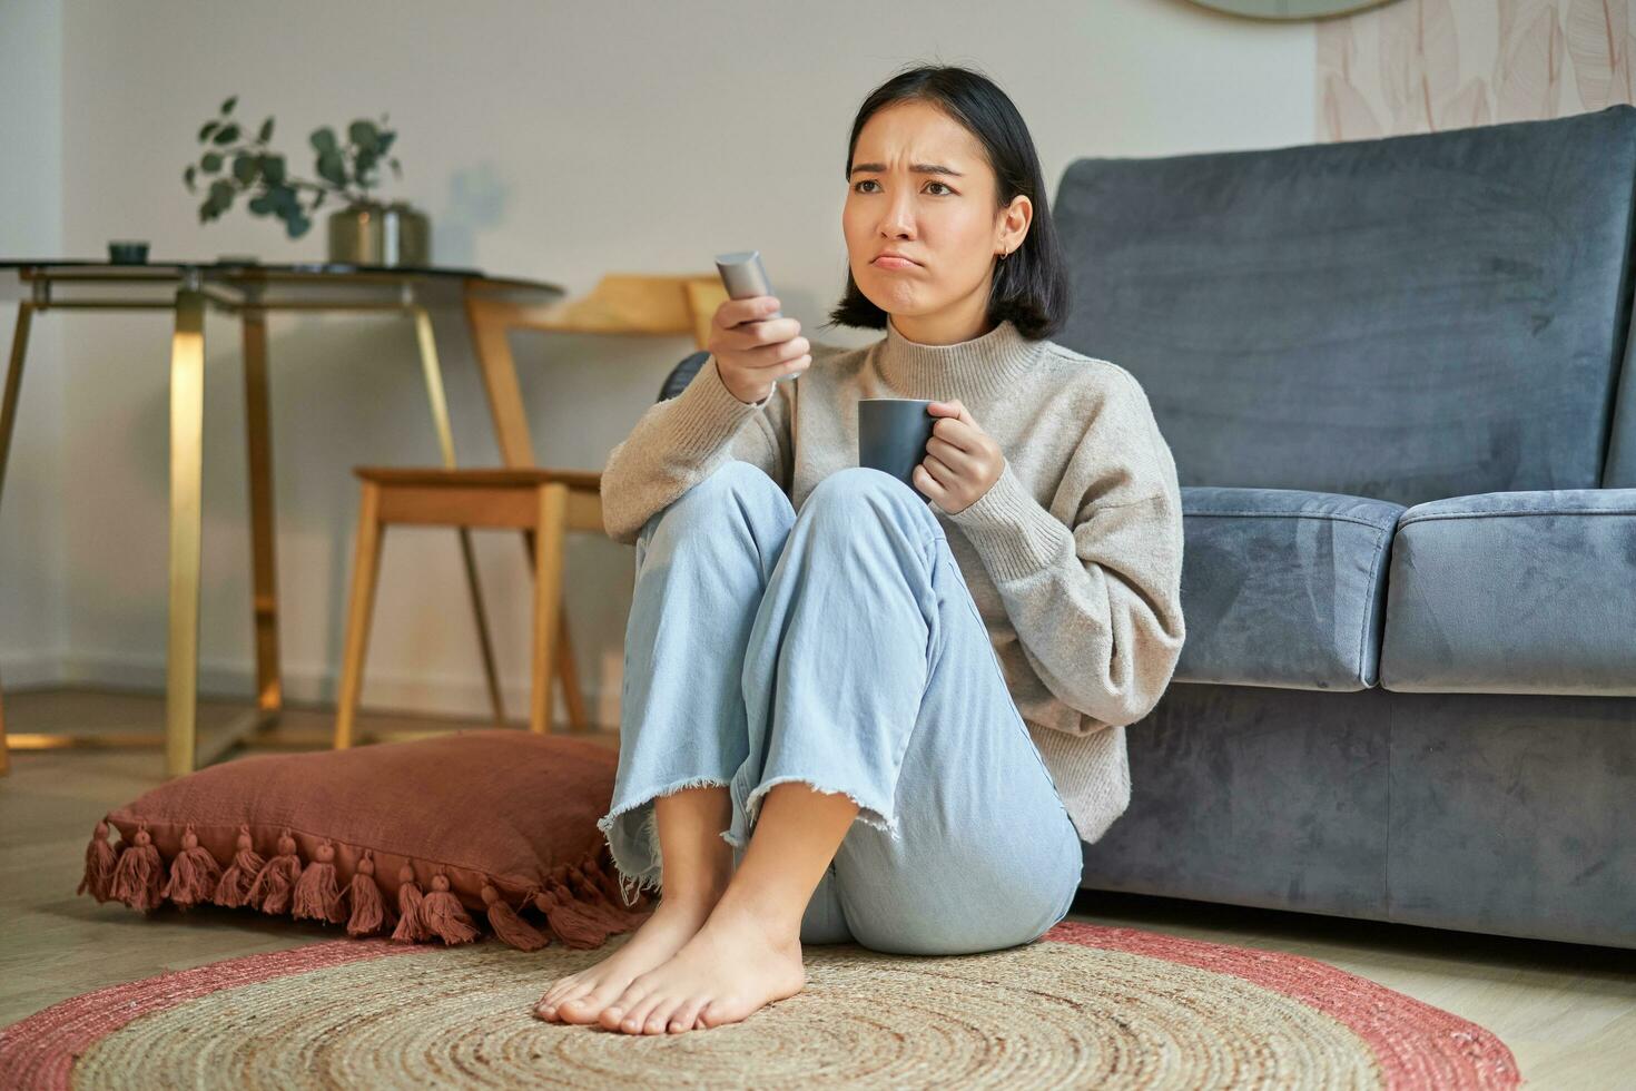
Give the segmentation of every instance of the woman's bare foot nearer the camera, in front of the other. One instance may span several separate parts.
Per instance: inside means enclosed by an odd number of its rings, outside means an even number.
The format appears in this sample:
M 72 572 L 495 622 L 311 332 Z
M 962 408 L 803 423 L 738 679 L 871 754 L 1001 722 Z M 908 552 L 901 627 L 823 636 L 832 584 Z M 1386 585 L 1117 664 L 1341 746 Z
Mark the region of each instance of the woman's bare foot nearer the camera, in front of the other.
M 784 934 L 723 900 L 669 962 L 602 1008 L 599 1021 L 625 1034 L 679 1034 L 738 1022 L 805 986 L 798 926 Z

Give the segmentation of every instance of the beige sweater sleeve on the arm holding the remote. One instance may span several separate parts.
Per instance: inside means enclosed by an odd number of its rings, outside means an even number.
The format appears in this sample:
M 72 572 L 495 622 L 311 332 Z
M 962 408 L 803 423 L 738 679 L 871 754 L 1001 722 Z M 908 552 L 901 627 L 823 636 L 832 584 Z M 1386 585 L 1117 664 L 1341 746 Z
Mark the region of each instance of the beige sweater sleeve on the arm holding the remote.
M 790 419 L 795 383 L 775 383 L 759 402 L 741 402 L 710 357 L 676 397 L 649 406 L 602 469 L 602 525 L 635 545 L 648 520 L 726 461 L 761 466 L 790 491 Z

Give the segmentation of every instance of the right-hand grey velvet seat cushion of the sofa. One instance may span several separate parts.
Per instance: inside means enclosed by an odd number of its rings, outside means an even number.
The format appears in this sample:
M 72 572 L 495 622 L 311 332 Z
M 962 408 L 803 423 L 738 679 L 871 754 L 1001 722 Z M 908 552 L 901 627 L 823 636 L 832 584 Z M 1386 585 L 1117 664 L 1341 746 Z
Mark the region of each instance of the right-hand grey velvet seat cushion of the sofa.
M 1636 489 L 1489 492 L 1404 512 L 1381 685 L 1636 695 Z

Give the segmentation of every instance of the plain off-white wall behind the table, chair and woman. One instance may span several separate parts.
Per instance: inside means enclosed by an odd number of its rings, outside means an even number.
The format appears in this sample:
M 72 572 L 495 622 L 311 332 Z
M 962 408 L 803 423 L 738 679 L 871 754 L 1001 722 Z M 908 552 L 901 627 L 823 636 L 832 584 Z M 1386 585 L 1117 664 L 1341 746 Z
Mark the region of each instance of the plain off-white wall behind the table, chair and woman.
M 846 137 L 862 97 L 906 62 L 970 64 L 1029 121 L 1055 193 L 1080 155 L 1160 155 L 1309 142 L 1312 25 L 1235 20 L 1183 0 L 857 3 L 69 2 L 0 7 L 0 118 L 47 162 L 7 173 L 0 252 L 92 257 L 111 237 L 154 258 L 317 260 L 319 231 L 283 239 L 242 208 L 200 226 L 182 186 L 195 132 L 222 98 L 276 116 L 275 144 L 311 173 L 306 134 L 391 113 L 404 180 L 430 211 L 435 257 L 589 290 L 605 272 L 708 273 L 759 247 L 785 312 L 815 327 L 844 283 Z M 21 16 L 20 16 L 21 13 Z M 26 44 L 23 44 L 26 41 Z M 25 54 L 41 75 L 3 64 Z M 38 90 L 61 77 L 61 106 Z M 735 98 L 738 87 L 751 88 Z M 20 110 L 15 93 L 38 110 Z M 49 159 L 59 141 L 61 164 Z M 15 147 L 8 139 L 7 154 Z M 11 221 L 61 236 L 15 236 Z M 25 389 L 0 554 L 0 672 L 49 654 L 56 677 L 164 685 L 167 316 L 52 316 L 61 371 Z M 435 463 L 407 322 L 275 316 L 273 453 L 283 659 L 291 700 L 330 700 L 352 563 L 358 463 Z M 494 465 L 456 321 L 440 332 L 460 456 Z M 685 339 L 514 339 L 542 463 L 600 468 L 653 402 Z M 249 694 L 249 540 L 237 329 L 206 326 L 201 684 Z M 52 417 L 54 414 L 54 417 Z M 69 487 L 67 483 L 72 483 Z M 47 502 L 49 501 L 49 502 Z M 61 528 L 61 543 L 59 543 Z M 528 574 L 514 537 L 479 533 L 479 566 L 514 716 L 527 708 Z M 61 586 L 46 574 L 61 564 Z M 631 553 L 571 545 L 569 612 L 602 716 L 618 698 Z M 28 587 L 49 587 L 51 594 Z M 52 628 L 62 615 L 61 630 Z M 47 651 L 49 649 L 49 651 Z M 8 677 L 10 680 L 10 677 Z M 365 705 L 484 708 L 452 532 L 386 538 Z M 15 725 L 21 730 L 23 725 Z

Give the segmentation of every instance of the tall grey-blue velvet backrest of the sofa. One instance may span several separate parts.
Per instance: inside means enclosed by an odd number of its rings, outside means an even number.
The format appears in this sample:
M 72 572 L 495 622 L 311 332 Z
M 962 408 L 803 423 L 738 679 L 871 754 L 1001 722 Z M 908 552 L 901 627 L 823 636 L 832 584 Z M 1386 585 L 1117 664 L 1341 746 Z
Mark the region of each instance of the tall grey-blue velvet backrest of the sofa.
M 1399 504 L 1636 484 L 1636 108 L 1080 159 L 1055 340 L 1142 383 L 1181 484 Z M 1620 451 L 1625 451 L 1620 455 Z M 1613 463 L 1608 461 L 1611 471 Z

